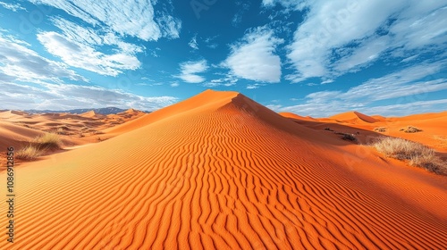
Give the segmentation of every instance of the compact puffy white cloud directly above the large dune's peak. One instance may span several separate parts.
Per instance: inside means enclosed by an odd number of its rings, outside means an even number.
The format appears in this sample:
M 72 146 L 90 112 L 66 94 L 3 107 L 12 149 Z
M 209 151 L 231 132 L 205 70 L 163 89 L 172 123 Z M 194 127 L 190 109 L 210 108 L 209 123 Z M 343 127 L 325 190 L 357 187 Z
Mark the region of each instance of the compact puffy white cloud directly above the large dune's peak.
M 283 39 L 274 37 L 270 29 L 257 28 L 232 46 L 232 53 L 223 62 L 232 74 L 242 78 L 263 82 L 281 80 L 281 59 L 274 54 Z

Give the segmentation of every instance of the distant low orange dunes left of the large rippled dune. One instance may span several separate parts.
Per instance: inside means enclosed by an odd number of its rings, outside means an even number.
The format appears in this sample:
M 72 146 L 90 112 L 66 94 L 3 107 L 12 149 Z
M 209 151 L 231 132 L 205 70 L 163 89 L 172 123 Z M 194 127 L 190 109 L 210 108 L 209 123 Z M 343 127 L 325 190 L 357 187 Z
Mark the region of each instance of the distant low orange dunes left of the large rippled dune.
M 66 112 L 42 114 L 0 112 L 0 163 L 4 165 L 6 162 L 5 151 L 8 146 L 20 150 L 46 132 L 59 134 L 63 147 L 80 146 L 114 137 L 102 130 L 134 120 L 144 114 L 145 112 L 136 110 L 107 116 L 95 112 L 86 112 L 82 115 Z M 47 154 L 53 153 L 55 152 L 47 152 Z M 3 165 L 0 170 L 4 169 Z

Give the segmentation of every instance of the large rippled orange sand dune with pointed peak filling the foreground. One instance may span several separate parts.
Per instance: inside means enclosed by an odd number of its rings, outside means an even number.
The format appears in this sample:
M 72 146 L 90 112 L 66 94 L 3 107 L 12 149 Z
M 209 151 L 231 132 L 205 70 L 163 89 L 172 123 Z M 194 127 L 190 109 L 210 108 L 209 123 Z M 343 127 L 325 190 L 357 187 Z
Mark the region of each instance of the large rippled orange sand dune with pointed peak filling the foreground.
M 18 168 L 17 238 L 2 233 L 0 248 L 445 246 L 445 177 L 336 146 L 238 93 L 208 90 L 129 124 Z

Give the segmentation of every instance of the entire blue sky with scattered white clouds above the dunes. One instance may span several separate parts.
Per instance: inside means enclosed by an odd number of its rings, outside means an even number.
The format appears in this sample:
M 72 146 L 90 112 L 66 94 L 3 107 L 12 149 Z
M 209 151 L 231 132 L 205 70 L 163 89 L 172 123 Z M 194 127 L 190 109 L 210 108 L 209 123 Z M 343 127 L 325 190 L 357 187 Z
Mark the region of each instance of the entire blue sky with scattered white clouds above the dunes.
M 447 1 L 0 0 L 0 108 L 447 110 Z

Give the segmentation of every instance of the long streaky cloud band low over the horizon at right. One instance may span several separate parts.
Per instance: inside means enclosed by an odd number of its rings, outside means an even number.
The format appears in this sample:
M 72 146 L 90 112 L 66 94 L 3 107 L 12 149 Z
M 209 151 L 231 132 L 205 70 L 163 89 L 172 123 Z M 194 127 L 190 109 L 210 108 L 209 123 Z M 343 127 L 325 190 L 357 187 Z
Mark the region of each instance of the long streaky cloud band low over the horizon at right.
M 381 78 L 369 79 L 351 87 L 347 91 L 319 91 L 308 94 L 304 104 L 276 106 L 277 111 L 296 112 L 301 115 L 329 116 L 339 112 L 357 110 L 367 114 L 404 115 L 415 112 L 428 112 L 432 106 L 419 107 L 418 104 L 436 104 L 426 100 L 427 93 L 445 91 L 447 79 L 434 77 L 444 71 L 446 62 L 422 63 Z M 389 105 L 375 105 L 388 100 Z M 328 109 L 330 107 L 330 109 Z M 395 110 L 392 107 L 396 108 Z M 404 109 L 411 107 L 411 109 Z M 425 108 L 425 109 L 424 109 Z M 434 110 L 443 110 L 440 106 Z M 444 107 L 445 109 L 445 107 Z M 432 111 L 432 112 L 433 112 Z

